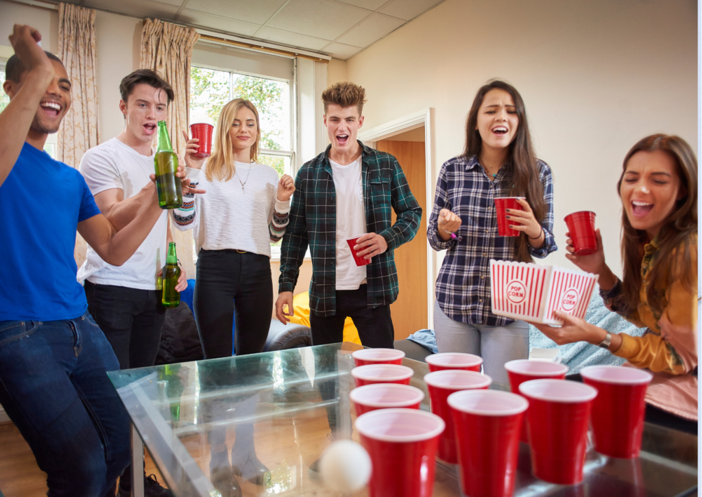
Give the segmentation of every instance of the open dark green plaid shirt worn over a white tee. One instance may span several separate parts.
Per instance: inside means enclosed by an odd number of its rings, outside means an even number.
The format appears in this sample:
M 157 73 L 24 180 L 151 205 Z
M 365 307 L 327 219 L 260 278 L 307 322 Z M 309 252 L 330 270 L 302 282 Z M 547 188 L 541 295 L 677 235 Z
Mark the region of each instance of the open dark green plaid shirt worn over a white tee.
M 368 233 L 378 233 L 388 250 L 366 266 L 368 305 L 387 306 L 397 299 L 393 250 L 417 234 L 422 208 L 409 191 L 397 159 L 359 142 L 363 150 L 361 175 Z M 305 163 L 295 179 L 295 194 L 280 255 L 279 292 L 292 292 L 307 246 L 312 254 L 310 309 L 319 316 L 336 313 L 336 191 L 329 150 Z M 397 214 L 392 224 L 392 207 Z

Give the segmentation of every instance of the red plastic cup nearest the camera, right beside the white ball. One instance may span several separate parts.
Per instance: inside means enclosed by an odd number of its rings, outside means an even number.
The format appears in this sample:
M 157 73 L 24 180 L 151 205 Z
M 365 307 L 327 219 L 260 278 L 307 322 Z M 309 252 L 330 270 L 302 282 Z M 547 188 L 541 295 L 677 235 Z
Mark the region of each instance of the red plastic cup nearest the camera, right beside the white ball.
M 373 465 L 369 497 L 431 497 L 442 418 L 420 409 L 379 409 L 354 425 Z

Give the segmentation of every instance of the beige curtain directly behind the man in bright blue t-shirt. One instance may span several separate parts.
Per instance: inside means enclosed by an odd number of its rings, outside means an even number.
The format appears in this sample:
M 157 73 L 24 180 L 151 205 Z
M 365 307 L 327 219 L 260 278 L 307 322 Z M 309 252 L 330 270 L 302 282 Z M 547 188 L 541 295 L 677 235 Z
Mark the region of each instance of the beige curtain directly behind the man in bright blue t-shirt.
M 77 168 L 86 150 L 99 141 L 95 11 L 59 4 L 58 56 L 72 83 L 72 103 L 58 130 L 57 158 Z

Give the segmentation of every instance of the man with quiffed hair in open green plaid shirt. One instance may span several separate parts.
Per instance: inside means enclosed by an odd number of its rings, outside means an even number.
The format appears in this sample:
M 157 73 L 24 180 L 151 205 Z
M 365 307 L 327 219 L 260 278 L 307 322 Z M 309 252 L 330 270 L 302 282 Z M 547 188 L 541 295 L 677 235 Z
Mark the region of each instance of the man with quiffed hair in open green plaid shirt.
M 300 168 L 283 238 L 276 315 L 283 323 L 292 315 L 293 289 L 309 245 L 314 345 L 342 341 L 350 316 L 364 346 L 392 348 L 390 304 L 399 292 L 393 250 L 414 238 L 422 215 L 397 159 L 356 139 L 364 97 L 363 88 L 347 81 L 322 94 L 331 145 Z M 362 266 L 346 241 L 360 234 L 354 250 L 369 261 Z

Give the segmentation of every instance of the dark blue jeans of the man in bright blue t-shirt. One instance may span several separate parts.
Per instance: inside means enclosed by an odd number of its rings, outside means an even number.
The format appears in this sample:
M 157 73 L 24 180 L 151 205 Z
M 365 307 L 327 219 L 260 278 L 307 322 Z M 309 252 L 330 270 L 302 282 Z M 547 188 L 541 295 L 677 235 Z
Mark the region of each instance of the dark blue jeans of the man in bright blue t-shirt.
M 46 472 L 49 497 L 114 496 L 130 461 L 129 417 L 106 374 L 116 369 L 87 312 L 0 321 L 0 404 Z

